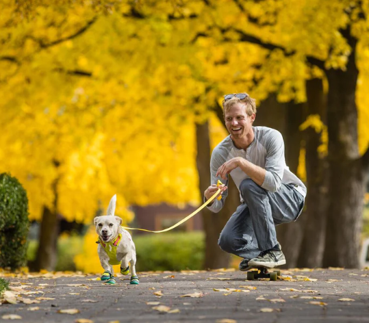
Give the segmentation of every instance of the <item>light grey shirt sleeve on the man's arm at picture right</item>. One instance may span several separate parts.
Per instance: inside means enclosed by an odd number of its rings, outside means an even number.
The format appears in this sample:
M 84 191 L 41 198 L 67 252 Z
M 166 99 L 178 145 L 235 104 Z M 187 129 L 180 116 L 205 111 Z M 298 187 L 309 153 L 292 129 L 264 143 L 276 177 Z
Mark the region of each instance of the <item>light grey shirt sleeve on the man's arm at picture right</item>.
M 272 131 L 266 142 L 265 179 L 262 188 L 270 192 L 277 192 L 281 187 L 285 168 L 284 142 L 281 133 Z

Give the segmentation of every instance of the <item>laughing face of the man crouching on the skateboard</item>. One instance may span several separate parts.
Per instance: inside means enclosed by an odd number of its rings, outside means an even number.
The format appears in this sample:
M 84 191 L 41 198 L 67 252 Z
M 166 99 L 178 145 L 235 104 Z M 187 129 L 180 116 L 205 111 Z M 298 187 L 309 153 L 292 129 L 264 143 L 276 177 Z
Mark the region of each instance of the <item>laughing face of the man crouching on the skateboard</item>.
M 244 103 L 236 103 L 232 105 L 225 113 L 225 126 L 234 139 L 245 137 L 252 130 L 255 114 L 249 116 L 246 114 L 246 106 Z

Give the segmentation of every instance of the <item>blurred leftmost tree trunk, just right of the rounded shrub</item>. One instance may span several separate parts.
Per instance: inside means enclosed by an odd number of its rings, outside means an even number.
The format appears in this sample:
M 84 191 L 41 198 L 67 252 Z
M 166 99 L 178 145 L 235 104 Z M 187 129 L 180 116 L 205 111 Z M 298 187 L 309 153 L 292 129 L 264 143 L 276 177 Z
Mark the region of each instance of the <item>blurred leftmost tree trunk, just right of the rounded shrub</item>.
M 54 161 L 55 168 L 60 166 L 58 161 Z M 54 203 L 53 210 L 44 207 L 42 214 L 42 222 L 40 225 L 40 237 L 38 239 L 38 249 L 36 260 L 32 265 L 32 270 L 55 270 L 58 260 L 58 235 L 59 224 L 58 218 L 58 179 L 53 182 Z

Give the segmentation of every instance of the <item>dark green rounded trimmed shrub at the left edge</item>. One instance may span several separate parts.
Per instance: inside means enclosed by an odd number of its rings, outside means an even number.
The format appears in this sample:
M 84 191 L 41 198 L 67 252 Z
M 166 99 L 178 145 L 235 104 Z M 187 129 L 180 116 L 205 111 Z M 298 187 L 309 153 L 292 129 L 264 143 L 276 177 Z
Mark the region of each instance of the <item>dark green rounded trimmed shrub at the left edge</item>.
M 25 189 L 16 178 L 0 174 L 0 268 L 25 266 L 28 227 Z

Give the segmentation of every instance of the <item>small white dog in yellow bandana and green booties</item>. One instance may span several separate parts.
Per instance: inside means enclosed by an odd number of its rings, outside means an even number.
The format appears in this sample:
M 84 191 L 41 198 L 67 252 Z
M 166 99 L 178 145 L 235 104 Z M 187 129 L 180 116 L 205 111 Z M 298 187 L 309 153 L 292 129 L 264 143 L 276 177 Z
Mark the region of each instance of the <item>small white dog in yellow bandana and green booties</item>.
M 131 284 L 138 285 L 140 281 L 136 275 L 136 246 L 129 232 L 120 227 L 122 219 L 114 216 L 115 206 L 116 195 L 110 200 L 106 216 L 94 218 L 96 232 L 99 235 L 97 253 L 105 270 L 101 281 L 115 284 L 113 265 L 120 264 L 120 272 L 127 275 L 131 263 Z

